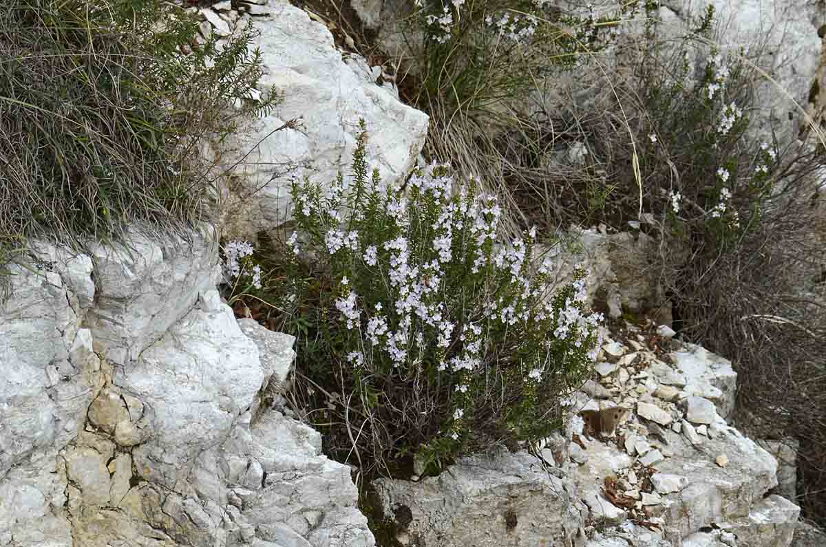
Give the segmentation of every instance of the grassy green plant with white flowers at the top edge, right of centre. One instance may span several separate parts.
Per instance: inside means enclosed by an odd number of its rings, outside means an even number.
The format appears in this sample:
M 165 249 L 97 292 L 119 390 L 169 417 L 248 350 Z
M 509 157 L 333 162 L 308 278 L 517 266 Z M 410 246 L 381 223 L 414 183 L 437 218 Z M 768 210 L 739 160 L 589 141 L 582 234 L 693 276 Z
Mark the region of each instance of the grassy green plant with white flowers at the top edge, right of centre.
M 490 115 L 497 103 L 524 99 L 551 70 L 586 62 L 581 54 L 604 48 L 638 5 L 600 16 L 591 7 L 578 17 L 550 0 L 415 0 L 411 30 L 423 35 L 414 52 L 422 79 L 415 102 L 431 116 Z

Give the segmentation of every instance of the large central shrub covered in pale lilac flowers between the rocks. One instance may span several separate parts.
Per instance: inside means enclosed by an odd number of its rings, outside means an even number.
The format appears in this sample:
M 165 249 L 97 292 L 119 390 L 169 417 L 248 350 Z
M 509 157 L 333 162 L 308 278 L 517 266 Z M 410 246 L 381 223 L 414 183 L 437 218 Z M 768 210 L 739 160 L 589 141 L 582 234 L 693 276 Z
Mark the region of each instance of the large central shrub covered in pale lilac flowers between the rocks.
M 329 192 L 295 182 L 292 200 L 284 255 L 304 269 L 296 278 L 316 280 L 288 289 L 312 340 L 297 370 L 332 455 L 382 473 L 415 456 L 432 470 L 558 426 L 560 397 L 598 347 L 584 272 L 554 286 L 535 231 L 497 240 L 496 199 L 444 166 L 412 174 L 404 190 L 368 178 L 363 138 L 352 180 L 339 176 Z

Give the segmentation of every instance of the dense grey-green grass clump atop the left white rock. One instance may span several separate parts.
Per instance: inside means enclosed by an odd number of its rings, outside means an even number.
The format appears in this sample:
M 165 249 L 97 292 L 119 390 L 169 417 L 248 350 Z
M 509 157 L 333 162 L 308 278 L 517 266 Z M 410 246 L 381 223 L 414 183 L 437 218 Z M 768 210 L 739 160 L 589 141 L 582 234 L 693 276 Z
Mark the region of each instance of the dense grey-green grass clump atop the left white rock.
M 0 246 L 201 219 L 212 185 L 199 145 L 273 102 L 232 108 L 262 74 L 252 36 L 205 40 L 195 15 L 160 0 L 2 10 Z

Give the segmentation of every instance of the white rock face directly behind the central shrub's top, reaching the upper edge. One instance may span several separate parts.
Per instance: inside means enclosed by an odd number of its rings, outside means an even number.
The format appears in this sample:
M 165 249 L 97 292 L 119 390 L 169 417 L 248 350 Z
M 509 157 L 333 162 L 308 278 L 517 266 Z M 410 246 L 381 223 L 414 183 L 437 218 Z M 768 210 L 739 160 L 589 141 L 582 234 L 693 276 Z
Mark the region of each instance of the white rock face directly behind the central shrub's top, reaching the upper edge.
M 221 158 L 229 165 L 251 150 L 236 170 L 244 183 L 238 195 L 256 192 L 238 204 L 243 210 L 230 207 L 225 219 L 225 234 L 248 240 L 287 220 L 292 177 L 330 183 L 339 170 L 350 173 L 359 119 L 367 124 L 368 162 L 386 182 L 414 167 L 429 123 L 423 112 L 377 86 L 363 60 L 345 63 L 330 31 L 306 12 L 286 2 L 269 6 L 271 17 L 255 23 L 261 36 L 254 45 L 267 70 L 259 87 L 282 100 L 227 146 L 236 152 L 224 151 Z M 295 118 L 301 118 L 297 128 L 273 132 Z

